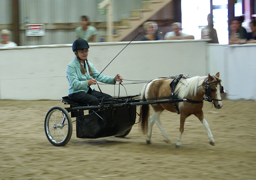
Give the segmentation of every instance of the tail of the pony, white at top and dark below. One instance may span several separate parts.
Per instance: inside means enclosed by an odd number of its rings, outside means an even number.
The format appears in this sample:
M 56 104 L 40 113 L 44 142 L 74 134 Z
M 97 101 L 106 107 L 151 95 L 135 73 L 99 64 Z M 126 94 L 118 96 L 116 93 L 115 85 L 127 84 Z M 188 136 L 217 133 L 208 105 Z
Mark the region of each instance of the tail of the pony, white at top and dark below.
M 141 91 L 141 101 L 147 101 L 145 98 L 146 87 L 147 86 L 145 85 Z M 147 133 L 148 131 L 148 117 L 149 117 L 149 105 L 142 104 L 141 113 L 139 114 L 139 122 L 141 122 L 141 129 L 143 133 Z

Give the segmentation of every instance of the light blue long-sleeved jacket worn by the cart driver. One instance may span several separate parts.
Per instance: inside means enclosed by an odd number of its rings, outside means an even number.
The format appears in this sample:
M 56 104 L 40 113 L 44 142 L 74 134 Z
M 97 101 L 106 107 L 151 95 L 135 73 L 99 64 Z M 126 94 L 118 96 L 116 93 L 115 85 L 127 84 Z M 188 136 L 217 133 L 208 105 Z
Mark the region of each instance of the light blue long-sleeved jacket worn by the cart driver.
M 73 93 L 78 93 L 80 91 L 84 91 L 85 93 L 87 93 L 89 88 L 92 90 L 94 89 L 92 85 L 87 86 L 87 81 L 92 78 L 95 79 L 100 73 L 94 68 L 91 62 L 88 62 L 88 64 L 92 69 L 93 76 L 90 76 L 88 65 L 86 63 L 85 63 L 86 73 L 85 75 L 82 74 L 80 69 L 80 62 L 77 60 L 76 57 L 73 61 L 71 61 L 68 64 L 68 68 L 67 68 L 67 79 L 69 84 L 68 95 Z M 100 74 L 100 76 L 97 77 L 97 81 L 109 83 L 113 85 L 115 84 L 114 77 L 104 76 L 103 74 Z

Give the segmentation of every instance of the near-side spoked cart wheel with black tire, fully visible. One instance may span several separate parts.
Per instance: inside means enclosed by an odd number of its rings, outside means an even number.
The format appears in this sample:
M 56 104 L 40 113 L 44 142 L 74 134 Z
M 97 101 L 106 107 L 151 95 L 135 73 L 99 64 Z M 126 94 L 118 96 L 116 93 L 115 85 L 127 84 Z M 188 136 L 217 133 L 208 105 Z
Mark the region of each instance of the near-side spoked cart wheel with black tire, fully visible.
M 72 120 L 63 107 L 52 107 L 44 120 L 44 131 L 47 139 L 56 146 L 64 146 L 72 136 Z

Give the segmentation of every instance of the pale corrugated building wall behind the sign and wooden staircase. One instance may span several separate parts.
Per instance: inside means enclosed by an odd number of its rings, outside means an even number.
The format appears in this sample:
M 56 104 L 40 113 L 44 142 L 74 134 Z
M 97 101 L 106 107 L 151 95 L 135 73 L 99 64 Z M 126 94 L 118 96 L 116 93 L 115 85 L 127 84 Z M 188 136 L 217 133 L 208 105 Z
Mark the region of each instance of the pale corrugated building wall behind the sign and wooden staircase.
M 145 0 L 113 1 L 113 21 L 120 22 L 121 18 L 130 17 L 131 10 L 141 9 L 141 2 Z M 100 41 L 101 35 L 105 35 L 105 24 L 102 22 L 106 22 L 106 15 L 101 15 L 97 10 L 97 3 L 100 2 L 102 0 L 19 0 L 20 45 L 73 43 L 76 39 L 75 28 L 80 26 L 81 15 L 89 16 L 90 22 L 97 26 L 98 35 L 96 40 Z M 165 22 L 168 22 L 168 19 L 172 19 L 171 9 L 172 4 L 170 3 L 161 12 L 152 16 L 151 19 L 165 19 Z M 29 19 L 28 23 L 46 24 L 46 35 L 26 37 L 24 30 L 26 17 Z M 7 27 L 12 30 L 11 18 L 11 1 L 0 0 L 0 30 L 1 27 Z M 133 34 L 130 36 L 133 36 Z M 127 37 L 127 40 L 129 39 L 130 37 Z

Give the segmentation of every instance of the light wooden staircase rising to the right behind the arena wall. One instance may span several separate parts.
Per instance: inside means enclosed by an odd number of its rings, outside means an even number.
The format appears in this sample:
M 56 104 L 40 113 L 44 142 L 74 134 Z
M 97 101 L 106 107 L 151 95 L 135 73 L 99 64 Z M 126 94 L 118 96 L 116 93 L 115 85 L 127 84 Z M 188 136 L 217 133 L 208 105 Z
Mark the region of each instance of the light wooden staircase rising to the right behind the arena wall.
M 172 0 L 143 1 L 142 9 L 131 10 L 131 18 L 121 19 L 120 26 L 114 26 L 113 41 L 121 41 Z

